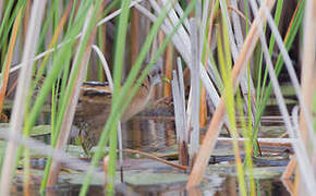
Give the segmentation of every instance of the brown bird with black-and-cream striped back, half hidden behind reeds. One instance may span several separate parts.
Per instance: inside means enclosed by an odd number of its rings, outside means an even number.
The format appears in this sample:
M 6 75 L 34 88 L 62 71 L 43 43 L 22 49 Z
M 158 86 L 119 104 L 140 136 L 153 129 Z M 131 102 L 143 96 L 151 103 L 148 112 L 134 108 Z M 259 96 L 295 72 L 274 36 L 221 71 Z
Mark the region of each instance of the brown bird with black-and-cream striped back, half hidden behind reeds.
M 122 114 L 121 122 L 126 122 L 146 108 L 149 100 L 154 98 L 155 87 L 160 82 L 161 68 L 154 65 Z M 111 99 L 112 93 L 108 83 L 83 83 L 74 115 L 72 133 L 77 135 L 87 155 L 89 155 L 92 147 L 98 144 L 104 126 L 111 112 Z M 72 134 L 73 136 L 74 134 Z

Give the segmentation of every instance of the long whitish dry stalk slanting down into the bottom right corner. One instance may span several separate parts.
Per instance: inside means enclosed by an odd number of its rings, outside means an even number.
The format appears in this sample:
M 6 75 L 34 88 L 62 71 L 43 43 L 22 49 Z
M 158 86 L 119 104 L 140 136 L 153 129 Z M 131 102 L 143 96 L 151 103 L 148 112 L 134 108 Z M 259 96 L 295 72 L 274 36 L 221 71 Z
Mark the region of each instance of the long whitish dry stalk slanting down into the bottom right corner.
M 254 1 L 251 1 L 251 5 L 253 8 L 254 13 L 257 14 L 256 3 Z M 265 7 L 265 5 L 263 5 L 263 7 Z M 269 19 L 269 15 L 267 13 L 265 13 L 265 14 L 267 15 L 268 20 L 271 20 L 271 19 Z M 260 28 L 262 28 L 262 26 L 260 26 Z M 278 34 L 276 34 L 276 38 L 277 38 L 277 40 L 279 39 Z M 288 113 L 288 110 L 287 110 L 287 107 L 284 103 L 284 99 L 282 97 L 279 84 L 278 84 L 278 81 L 277 81 L 277 77 L 275 74 L 275 70 L 274 70 L 274 66 L 271 63 L 271 59 L 269 57 L 268 48 L 266 46 L 265 36 L 263 34 L 260 34 L 260 39 L 262 39 L 262 46 L 264 49 L 264 54 L 265 54 L 265 58 L 267 60 L 267 65 L 269 69 L 269 76 L 270 76 L 270 79 L 271 79 L 272 85 L 274 85 L 272 87 L 274 87 L 274 90 L 275 90 L 275 94 L 276 94 L 276 97 L 278 100 L 278 105 L 279 105 L 281 114 L 282 114 L 283 120 L 284 120 L 284 124 L 287 126 L 287 130 L 288 130 L 290 136 L 295 137 L 295 134 L 294 134 L 295 125 L 293 126 L 293 124 L 290 121 L 290 117 L 289 117 L 289 113 Z M 282 46 L 279 46 L 279 47 L 282 50 Z M 282 52 L 282 54 L 284 54 L 284 53 Z M 299 130 L 299 128 L 296 127 L 296 130 Z M 311 162 L 308 160 L 307 154 L 306 154 L 305 148 L 304 148 L 304 144 L 301 140 L 300 132 L 297 132 L 296 134 L 299 135 L 299 140 L 297 140 L 297 143 L 293 143 L 293 146 L 294 146 L 295 155 L 299 158 L 297 160 L 299 160 L 299 166 L 300 166 L 300 173 L 303 176 L 303 180 L 306 184 L 306 191 L 308 192 L 309 195 L 313 195 L 314 187 L 316 187 L 313 167 L 311 166 Z

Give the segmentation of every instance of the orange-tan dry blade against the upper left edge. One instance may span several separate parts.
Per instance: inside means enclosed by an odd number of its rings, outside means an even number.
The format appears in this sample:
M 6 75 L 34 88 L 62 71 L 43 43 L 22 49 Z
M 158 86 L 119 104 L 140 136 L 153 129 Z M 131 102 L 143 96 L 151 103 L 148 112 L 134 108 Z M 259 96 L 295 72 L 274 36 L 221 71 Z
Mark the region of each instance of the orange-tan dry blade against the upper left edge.
M 2 119 L 2 106 L 4 102 L 4 96 L 5 96 L 7 86 L 8 86 L 9 71 L 11 68 L 13 52 L 14 52 L 13 50 L 15 47 L 17 32 L 19 32 L 20 24 L 21 24 L 22 10 L 23 9 L 21 8 L 17 15 L 16 15 L 16 19 L 14 21 L 14 25 L 13 25 L 13 29 L 12 29 L 12 34 L 11 34 L 11 38 L 10 38 L 10 44 L 9 44 L 8 54 L 7 54 L 7 58 L 4 60 L 4 65 L 2 66 L 2 71 L 1 71 L 2 74 L 1 74 L 1 91 L 0 91 L 0 119 Z

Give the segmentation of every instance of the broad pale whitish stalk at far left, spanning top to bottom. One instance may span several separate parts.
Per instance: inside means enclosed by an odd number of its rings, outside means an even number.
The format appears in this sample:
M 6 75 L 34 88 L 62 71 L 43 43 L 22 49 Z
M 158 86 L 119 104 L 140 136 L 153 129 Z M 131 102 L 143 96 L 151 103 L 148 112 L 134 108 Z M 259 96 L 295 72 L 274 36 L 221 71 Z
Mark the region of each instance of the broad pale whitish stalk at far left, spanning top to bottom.
M 14 170 L 15 163 L 15 152 L 17 149 L 17 145 L 10 139 L 19 134 L 22 130 L 22 123 L 24 119 L 25 112 L 25 97 L 27 96 L 27 89 L 29 87 L 29 82 L 32 77 L 32 63 L 28 62 L 35 56 L 37 37 L 39 35 L 40 24 L 44 15 L 46 0 L 39 1 L 36 0 L 33 3 L 32 8 L 32 16 L 29 21 L 29 27 L 27 30 L 27 39 L 24 46 L 24 53 L 22 58 L 22 62 L 24 66 L 22 68 L 22 72 L 19 77 L 17 90 L 16 90 L 16 99 L 14 101 L 12 119 L 10 123 L 10 137 L 9 143 L 5 149 L 4 162 L 2 166 L 1 173 L 1 184 L 0 184 L 0 195 L 9 195 L 12 180 L 12 172 Z

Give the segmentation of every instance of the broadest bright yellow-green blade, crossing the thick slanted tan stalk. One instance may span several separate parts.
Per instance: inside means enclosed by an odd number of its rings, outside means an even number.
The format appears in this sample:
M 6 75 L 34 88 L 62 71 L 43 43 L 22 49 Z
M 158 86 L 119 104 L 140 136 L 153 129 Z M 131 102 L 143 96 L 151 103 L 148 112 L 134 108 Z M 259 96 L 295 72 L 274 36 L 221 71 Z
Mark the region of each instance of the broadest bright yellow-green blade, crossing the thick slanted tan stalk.
M 236 138 L 239 134 L 236 132 L 236 122 L 235 122 L 235 110 L 234 110 L 234 85 L 232 82 L 231 75 L 231 52 L 229 47 L 229 35 L 228 35 L 228 22 L 224 16 L 221 16 L 221 25 L 219 27 L 219 36 L 218 36 L 218 58 L 219 58 L 219 65 L 221 69 L 221 75 L 224 84 L 224 91 L 226 91 L 226 112 L 230 121 L 230 134 L 233 138 L 233 152 L 235 156 L 235 164 L 238 170 L 238 181 L 239 181 L 239 191 L 241 195 L 246 194 L 245 187 L 245 176 L 244 170 L 242 166 L 241 155 Z

